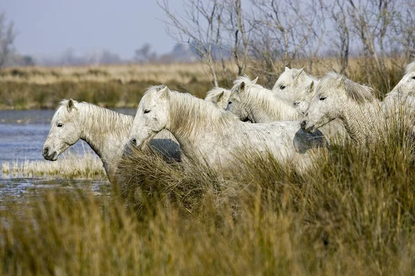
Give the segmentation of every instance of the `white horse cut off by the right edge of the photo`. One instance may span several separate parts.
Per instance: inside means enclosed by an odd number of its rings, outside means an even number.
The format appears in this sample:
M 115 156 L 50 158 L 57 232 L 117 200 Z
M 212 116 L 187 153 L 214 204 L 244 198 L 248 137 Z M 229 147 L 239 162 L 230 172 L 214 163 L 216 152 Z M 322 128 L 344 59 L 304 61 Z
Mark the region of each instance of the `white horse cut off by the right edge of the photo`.
M 415 114 L 415 61 L 409 63 L 405 75 L 391 92 L 387 93 L 381 103 L 382 109 L 390 117 L 405 114 L 414 117 Z

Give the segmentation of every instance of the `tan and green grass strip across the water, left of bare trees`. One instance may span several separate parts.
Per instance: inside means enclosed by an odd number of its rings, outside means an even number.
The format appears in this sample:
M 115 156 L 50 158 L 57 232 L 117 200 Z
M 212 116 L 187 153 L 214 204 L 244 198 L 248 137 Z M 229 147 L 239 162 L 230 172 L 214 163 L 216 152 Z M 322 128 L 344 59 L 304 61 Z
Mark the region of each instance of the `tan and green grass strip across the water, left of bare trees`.
M 145 90 L 160 83 L 199 97 L 212 88 L 199 63 L 6 68 L 0 71 L 0 109 L 56 108 L 68 98 L 135 108 Z

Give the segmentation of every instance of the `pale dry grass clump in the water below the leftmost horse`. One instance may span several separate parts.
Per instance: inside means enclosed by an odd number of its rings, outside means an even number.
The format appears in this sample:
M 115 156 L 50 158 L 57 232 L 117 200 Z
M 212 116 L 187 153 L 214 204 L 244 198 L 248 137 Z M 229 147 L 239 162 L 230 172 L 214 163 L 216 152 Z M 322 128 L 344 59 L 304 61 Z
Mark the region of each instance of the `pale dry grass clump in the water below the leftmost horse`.
M 1 165 L 3 177 L 64 177 L 104 178 L 102 161 L 91 152 L 65 152 L 57 161 L 24 160 L 4 162 Z

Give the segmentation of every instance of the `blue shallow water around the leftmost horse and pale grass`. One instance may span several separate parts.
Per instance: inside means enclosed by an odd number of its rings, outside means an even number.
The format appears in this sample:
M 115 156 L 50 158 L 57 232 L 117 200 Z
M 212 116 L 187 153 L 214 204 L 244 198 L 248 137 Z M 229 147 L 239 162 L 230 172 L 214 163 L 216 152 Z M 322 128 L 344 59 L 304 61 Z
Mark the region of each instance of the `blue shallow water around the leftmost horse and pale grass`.
M 136 113 L 134 109 L 116 111 L 128 115 Z M 42 148 L 48 136 L 50 119 L 54 112 L 54 110 L 0 110 L 0 167 L 3 162 L 16 159 L 20 161 L 43 160 Z M 78 141 L 69 150 L 81 153 L 92 152 L 84 141 Z M 36 197 L 51 189 L 59 190 L 59 192 L 91 190 L 95 195 L 101 195 L 103 190 L 109 190 L 109 182 L 59 179 L 58 177 L 54 179 L 10 178 L 3 176 L 0 170 L 0 208 L 3 206 L 2 201 Z

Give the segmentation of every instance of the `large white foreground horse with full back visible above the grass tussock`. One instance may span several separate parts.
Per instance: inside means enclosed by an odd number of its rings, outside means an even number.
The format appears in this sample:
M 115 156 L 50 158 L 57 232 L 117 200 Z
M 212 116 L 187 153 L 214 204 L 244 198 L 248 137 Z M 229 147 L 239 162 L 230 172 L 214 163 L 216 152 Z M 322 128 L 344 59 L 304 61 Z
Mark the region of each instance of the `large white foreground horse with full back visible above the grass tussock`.
M 263 157 L 270 154 L 280 161 L 296 157 L 302 160 L 309 157 L 298 152 L 326 145 L 320 135 L 302 132 L 297 121 L 243 123 L 202 99 L 156 86 L 145 93 L 138 105 L 130 143 L 145 146 L 163 129 L 172 132 L 190 161 L 207 164 L 219 174 L 240 164 L 239 156 L 246 152 Z

